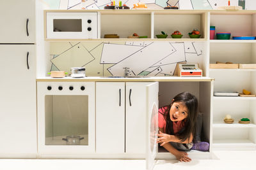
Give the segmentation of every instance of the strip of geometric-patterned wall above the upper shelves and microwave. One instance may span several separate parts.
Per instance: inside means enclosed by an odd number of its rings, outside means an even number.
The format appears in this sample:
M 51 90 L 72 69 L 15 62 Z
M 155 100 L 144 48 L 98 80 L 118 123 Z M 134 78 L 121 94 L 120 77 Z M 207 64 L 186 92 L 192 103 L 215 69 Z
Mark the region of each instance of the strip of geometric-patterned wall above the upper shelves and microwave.
M 87 10 L 99 10 L 111 3 L 111 0 L 85 0 L 84 4 L 81 0 L 41 0 L 48 4 L 51 9 L 60 10 L 77 10 L 86 8 Z M 230 5 L 238 5 L 239 0 L 230 0 Z M 163 9 L 165 6 L 179 6 L 180 10 L 212 10 L 218 6 L 227 6 L 228 0 L 125 0 L 122 1 L 132 8 L 133 4 L 145 3 L 150 9 Z M 116 0 L 116 4 L 119 1 Z M 245 0 L 246 10 L 256 10 L 255 0 Z

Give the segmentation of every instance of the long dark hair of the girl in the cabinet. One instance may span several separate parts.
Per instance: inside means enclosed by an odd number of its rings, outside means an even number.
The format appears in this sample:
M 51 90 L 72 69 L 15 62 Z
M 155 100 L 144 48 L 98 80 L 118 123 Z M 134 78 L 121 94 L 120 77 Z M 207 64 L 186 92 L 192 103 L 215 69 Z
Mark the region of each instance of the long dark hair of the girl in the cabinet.
M 184 121 L 184 127 L 175 134 L 180 141 L 186 141 L 189 139 L 190 134 L 192 132 L 193 136 L 195 135 L 196 128 L 196 117 L 198 114 L 198 101 L 193 94 L 189 92 L 182 92 L 173 98 L 172 103 L 167 106 L 167 109 L 164 111 L 164 119 L 166 120 L 166 134 L 173 134 L 173 124 L 172 120 L 170 120 L 170 108 L 173 103 L 182 102 L 188 108 L 188 117 Z

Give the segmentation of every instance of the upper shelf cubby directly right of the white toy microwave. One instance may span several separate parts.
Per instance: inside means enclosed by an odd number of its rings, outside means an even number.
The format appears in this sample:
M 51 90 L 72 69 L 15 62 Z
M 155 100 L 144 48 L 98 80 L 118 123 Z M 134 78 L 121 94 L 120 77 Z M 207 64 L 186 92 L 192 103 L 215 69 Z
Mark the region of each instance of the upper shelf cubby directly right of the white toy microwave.
M 139 36 L 151 38 L 151 14 L 150 13 L 101 13 L 100 38 L 104 34 L 117 34 L 120 38 L 127 38 L 136 32 Z

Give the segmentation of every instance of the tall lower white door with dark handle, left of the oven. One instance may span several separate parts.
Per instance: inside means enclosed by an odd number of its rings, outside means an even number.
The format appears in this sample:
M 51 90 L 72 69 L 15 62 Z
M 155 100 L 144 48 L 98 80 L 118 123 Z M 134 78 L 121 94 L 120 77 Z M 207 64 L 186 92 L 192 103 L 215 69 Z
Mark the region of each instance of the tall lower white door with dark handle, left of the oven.
M 0 45 L 0 52 L 0 157 L 35 157 L 35 45 Z

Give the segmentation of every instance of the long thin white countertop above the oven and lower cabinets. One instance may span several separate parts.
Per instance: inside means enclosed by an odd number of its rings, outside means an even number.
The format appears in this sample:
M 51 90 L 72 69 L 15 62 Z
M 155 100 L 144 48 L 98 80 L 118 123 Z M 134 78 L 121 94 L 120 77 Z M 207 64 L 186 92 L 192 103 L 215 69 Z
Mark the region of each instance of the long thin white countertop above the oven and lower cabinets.
M 38 77 L 36 81 L 213 81 L 214 78 L 209 77 L 179 77 L 179 76 L 161 76 L 161 77 L 140 77 L 140 78 L 124 78 L 124 77 L 103 77 L 88 76 L 83 78 L 72 78 L 70 76 L 64 78 Z

